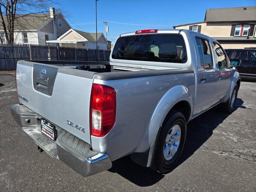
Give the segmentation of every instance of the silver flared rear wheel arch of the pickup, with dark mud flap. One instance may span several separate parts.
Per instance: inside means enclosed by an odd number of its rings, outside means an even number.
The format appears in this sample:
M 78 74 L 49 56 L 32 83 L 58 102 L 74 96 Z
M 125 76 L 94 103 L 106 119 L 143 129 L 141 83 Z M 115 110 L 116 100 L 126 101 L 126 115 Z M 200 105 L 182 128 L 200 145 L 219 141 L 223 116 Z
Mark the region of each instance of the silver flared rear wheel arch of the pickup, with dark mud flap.
M 177 85 L 164 94 L 159 100 L 156 108 L 150 118 L 149 125 L 144 135 L 142 142 L 138 145 L 137 151 L 131 155 L 134 162 L 150 167 L 154 158 L 156 144 L 158 142 L 159 134 L 162 130 L 164 121 L 168 119 L 168 115 L 171 115 L 172 110 L 181 112 L 185 116 L 187 123 L 190 120 L 192 113 L 193 93 L 189 88 L 183 85 Z M 145 141 L 150 144 L 148 150 L 145 150 Z M 139 152 L 139 151 L 144 152 Z

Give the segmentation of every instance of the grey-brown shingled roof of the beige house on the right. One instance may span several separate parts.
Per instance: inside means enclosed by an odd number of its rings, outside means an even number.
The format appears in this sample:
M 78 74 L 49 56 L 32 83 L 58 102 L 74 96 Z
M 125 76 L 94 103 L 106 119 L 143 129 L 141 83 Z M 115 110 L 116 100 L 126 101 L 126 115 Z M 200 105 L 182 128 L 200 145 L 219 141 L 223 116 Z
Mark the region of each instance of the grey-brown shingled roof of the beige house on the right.
M 207 9 L 204 21 L 232 22 L 256 21 L 256 6 Z

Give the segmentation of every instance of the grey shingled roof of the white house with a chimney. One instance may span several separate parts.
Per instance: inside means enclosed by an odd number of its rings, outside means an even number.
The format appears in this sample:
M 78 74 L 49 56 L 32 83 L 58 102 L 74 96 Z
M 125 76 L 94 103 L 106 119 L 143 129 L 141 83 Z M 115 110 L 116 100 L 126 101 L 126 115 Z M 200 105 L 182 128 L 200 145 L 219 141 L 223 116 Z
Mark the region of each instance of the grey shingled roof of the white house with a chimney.
M 21 15 L 17 15 L 21 16 Z M 4 20 L 6 17 L 4 17 Z M 38 30 L 41 26 L 50 21 L 50 14 L 30 14 L 17 18 L 14 22 L 14 30 Z M 0 30 L 3 30 L 2 24 Z

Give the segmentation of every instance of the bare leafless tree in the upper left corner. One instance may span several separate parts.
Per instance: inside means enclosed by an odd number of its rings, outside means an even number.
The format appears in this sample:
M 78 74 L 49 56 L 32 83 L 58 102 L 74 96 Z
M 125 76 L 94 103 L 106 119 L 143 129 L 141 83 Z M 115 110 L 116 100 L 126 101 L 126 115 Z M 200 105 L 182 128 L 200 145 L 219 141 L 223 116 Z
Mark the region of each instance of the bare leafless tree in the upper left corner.
M 44 19 L 49 7 L 56 4 L 59 5 L 55 0 L 0 0 L 0 25 L 2 24 L 6 43 L 14 43 L 14 30 L 17 30 L 16 26 L 22 25 L 20 18 L 26 19 L 30 16 Z M 29 22 L 23 25 L 18 30 L 29 30 Z M 1 38 L 0 43 L 3 43 Z

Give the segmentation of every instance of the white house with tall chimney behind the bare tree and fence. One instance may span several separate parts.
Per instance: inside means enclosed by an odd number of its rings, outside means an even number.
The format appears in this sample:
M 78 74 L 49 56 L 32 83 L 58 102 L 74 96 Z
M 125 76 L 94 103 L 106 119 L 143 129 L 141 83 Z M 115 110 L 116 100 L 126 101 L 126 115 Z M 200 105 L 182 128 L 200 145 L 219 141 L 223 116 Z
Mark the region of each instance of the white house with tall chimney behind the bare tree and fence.
M 46 44 L 46 41 L 56 40 L 70 28 L 62 14 L 55 14 L 55 9 L 50 8 L 49 14 L 29 14 L 18 18 L 15 21 L 14 43 Z M 3 43 L 6 42 L 2 25 L 0 38 Z

